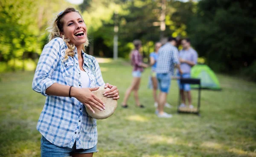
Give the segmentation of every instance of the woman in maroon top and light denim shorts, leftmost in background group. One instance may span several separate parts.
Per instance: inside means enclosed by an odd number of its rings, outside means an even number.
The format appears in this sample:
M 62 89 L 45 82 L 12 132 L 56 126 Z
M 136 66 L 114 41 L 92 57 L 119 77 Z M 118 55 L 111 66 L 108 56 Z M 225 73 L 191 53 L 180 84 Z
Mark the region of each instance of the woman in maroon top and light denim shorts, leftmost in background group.
M 133 80 L 131 82 L 131 86 L 126 90 L 125 97 L 122 102 L 122 107 L 127 108 L 127 101 L 131 94 L 131 91 L 134 91 L 134 99 L 136 101 L 137 107 L 144 108 L 142 104 L 140 104 L 138 90 L 140 87 L 140 77 L 143 72 L 143 67 L 148 67 L 147 64 L 143 63 L 143 56 L 140 53 L 140 48 L 142 47 L 141 41 L 136 39 L 133 41 L 135 49 L 131 51 L 131 62 L 133 65 L 132 76 Z

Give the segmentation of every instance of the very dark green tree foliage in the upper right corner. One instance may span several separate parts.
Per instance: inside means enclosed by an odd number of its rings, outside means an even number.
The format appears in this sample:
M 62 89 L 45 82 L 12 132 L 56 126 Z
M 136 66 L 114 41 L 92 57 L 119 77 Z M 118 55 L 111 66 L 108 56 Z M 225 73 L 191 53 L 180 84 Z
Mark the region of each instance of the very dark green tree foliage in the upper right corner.
M 201 0 L 189 36 L 212 69 L 239 70 L 256 59 L 255 18 L 256 1 Z

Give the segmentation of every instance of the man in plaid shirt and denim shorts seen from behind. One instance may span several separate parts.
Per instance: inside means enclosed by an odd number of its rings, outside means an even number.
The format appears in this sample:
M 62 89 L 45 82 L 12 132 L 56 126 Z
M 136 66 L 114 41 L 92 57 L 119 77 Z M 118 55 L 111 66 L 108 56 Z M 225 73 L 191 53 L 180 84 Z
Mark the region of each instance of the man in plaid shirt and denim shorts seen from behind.
M 160 118 L 172 117 L 171 114 L 163 112 L 163 107 L 166 103 L 166 98 L 169 93 L 171 76 L 173 75 L 175 66 L 178 68 L 179 72 L 182 73 L 180 69 L 178 49 L 175 47 L 176 43 L 177 40 L 175 38 L 169 37 L 168 42 L 158 51 L 159 54 L 156 72 L 157 80 L 159 81 L 160 94 L 158 98 L 157 115 Z

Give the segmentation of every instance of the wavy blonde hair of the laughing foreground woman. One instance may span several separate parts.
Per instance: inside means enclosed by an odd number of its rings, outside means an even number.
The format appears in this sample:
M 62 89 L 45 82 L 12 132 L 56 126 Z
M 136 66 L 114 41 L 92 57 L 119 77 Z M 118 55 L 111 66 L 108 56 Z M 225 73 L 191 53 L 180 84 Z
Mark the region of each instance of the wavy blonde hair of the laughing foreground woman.
M 52 24 L 50 27 L 47 28 L 47 30 L 49 31 L 49 41 L 51 41 L 52 39 L 56 38 L 56 37 L 61 37 L 64 42 L 66 42 L 67 44 L 67 50 L 65 51 L 65 56 L 64 56 L 64 60 L 66 61 L 68 59 L 68 56 L 75 56 L 75 45 L 73 43 L 70 42 L 70 39 L 66 39 L 64 35 L 61 36 L 61 32 L 63 32 L 63 17 L 70 12 L 76 12 L 78 13 L 80 16 L 81 14 L 79 13 L 79 11 L 77 11 L 75 8 L 73 7 L 68 7 L 66 8 L 64 11 L 61 11 L 61 13 L 59 13 L 53 20 Z M 82 16 L 81 16 L 82 18 Z M 89 40 L 88 38 L 86 39 L 86 42 L 84 43 L 84 47 L 89 45 Z M 85 52 L 85 48 L 83 47 L 83 51 Z

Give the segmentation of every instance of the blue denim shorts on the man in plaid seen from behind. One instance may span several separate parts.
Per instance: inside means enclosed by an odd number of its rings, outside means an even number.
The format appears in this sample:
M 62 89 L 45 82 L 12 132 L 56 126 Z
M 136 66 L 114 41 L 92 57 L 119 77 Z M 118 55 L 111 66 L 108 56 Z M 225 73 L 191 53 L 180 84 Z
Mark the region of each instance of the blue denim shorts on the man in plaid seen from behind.
M 171 85 L 171 75 L 169 73 L 157 73 L 157 80 L 161 92 L 169 93 Z

